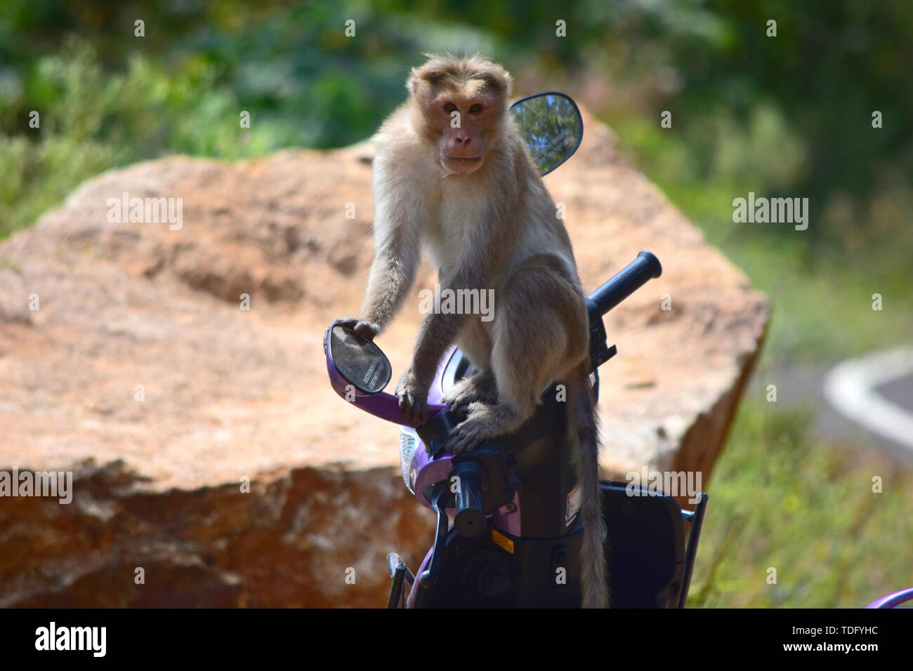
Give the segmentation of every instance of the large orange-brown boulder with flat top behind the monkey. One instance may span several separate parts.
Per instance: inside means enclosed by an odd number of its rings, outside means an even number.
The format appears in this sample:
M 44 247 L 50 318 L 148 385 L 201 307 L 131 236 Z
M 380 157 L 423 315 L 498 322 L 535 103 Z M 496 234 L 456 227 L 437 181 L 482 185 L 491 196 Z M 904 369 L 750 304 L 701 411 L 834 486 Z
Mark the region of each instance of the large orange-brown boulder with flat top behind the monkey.
M 0 605 L 377 606 L 389 551 L 415 569 L 431 516 L 403 488 L 396 428 L 331 392 L 320 345 L 361 304 L 370 157 L 141 163 L 0 246 L 0 470 L 75 477 L 69 505 L 0 498 Z M 589 117 L 546 183 L 587 287 L 640 249 L 665 267 L 606 319 L 606 475 L 697 470 L 706 487 L 767 301 Z M 124 193 L 183 198 L 183 227 L 110 223 Z M 380 341 L 395 371 L 418 317 Z

